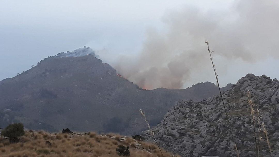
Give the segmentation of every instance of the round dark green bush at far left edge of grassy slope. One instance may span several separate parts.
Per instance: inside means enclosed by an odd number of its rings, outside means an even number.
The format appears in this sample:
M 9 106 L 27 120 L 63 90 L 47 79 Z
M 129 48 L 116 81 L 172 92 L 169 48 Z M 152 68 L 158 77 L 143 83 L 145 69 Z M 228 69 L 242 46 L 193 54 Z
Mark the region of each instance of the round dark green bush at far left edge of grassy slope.
M 8 137 L 11 142 L 18 142 L 18 137 L 24 135 L 23 124 L 14 123 L 1 131 L 1 135 Z

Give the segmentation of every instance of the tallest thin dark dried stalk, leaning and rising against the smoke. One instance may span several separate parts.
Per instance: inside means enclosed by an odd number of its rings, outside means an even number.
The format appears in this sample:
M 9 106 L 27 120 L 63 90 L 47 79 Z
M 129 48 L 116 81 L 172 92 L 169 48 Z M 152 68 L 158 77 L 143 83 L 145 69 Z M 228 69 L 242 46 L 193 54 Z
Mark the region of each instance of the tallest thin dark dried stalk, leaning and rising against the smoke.
M 219 80 L 218 80 L 218 75 L 217 75 L 217 72 L 216 72 L 216 68 L 215 68 L 215 64 L 213 63 L 213 59 L 212 59 L 212 56 L 211 56 L 211 53 L 213 52 L 210 52 L 210 49 L 209 49 L 209 43 L 207 41 L 205 41 L 205 43 L 207 44 L 207 47 L 208 47 L 208 52 L 209 52 L 209 55 L 210 55 L 210 60 L 211 60 L 211 63 L 212 63 L 212 66 L 213 66 L 213 70 L 214 70 L 214 74 L 215 74 L 215 77 L 216 77 L 216 81 L 217 81 L 217 86 L 218 86 L 218 89 L 219 89 L 219 92 L 220 92 L 220 96 L 221 96 L 221 99 L 222 99 L 222 103 L 223 103 L 223 107 L 225 109 L 225 113 L 226 113 L 226 118 L 227 118 L 227 122 L 228 122 L 228 125 L 229 125 L 229 129 L 230 129 L 230 134 L 233 138 L 233 135 L 232 135 L 232 128 L 230 126 L 230 121 L 229 121 L 229 116 L 228 116 L 228 113 L 227 113 L 227 110 L 226 110 L 226 106 L 225 106 L 225 103 L 224 103 L 224 99 L 223 99 L 223 96 L 222 96 L 222 92 L 221 92 L 221 89 L 220 89 L 220 85 L 219 85 Z M 236 146 L 236 143 L 234 142 L 234 145 L 235 145 L 235 151 L 237 153 L 237 157 L 239 157 L 239 153 L 238 153 L 238 150 L 237 150 L 237 146 Z

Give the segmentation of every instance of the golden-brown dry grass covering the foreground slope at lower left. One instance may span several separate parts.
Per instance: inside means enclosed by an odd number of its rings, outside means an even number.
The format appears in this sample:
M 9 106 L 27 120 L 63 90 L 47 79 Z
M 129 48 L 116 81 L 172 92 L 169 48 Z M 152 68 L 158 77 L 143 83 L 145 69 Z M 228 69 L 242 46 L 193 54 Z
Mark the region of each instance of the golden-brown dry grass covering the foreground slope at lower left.
M 92 132 L 49 134 L 43 131 L 25 132 L 18 143 L 10 143 L 0 137 L 0 154 L 1 157 L 119 157 L 116 153 L 118 145 L 129 146 L 133 157 L 162 157 L 154 144 L 136 141 L 130 137 L 116 134 L 97 135 Z M 164 157 L 173 156 L 164 150 L 162 153 Z

